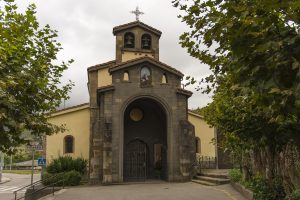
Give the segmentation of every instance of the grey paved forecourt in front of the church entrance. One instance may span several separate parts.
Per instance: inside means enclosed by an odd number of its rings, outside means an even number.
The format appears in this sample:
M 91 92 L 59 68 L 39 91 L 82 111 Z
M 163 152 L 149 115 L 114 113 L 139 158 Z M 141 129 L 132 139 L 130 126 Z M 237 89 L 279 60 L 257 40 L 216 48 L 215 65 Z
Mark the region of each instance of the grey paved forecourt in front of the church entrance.
M 149 183 L 72 187 L 43 200 L 245 200 L 231 185 Z

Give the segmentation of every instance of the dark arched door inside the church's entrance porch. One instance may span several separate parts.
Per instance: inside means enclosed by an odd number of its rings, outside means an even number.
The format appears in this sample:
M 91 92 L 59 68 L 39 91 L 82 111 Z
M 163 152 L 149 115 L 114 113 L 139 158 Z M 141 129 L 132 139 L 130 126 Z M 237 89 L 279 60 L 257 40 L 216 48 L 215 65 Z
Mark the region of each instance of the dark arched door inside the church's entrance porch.
M 141 140 L 133 140 L 125 146 L 124 179 L 142 181 L 147 178 L 147 145 Z

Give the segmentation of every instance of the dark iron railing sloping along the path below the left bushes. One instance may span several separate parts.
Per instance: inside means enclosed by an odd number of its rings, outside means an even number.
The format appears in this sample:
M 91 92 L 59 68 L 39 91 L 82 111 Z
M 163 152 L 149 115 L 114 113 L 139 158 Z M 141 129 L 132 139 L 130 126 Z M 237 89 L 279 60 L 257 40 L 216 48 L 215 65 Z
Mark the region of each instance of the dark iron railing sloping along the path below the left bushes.
M 43 184 L 43 182 L 47 182 L 49 180 L 55 180 L 57 177 L 62 177 L 62 179 L 55 181 L 55 182 L 50 182 L 50 184 L 47 184 L 47 185 Z M 54 187 L 58 186 L 59 183 L 62 183 L 62 188 L 65 187 L 64 173 L 56 174 L 56 175 L 50 176 L 46 179 L 39 180 L 30 185 L 26 185 L 22 188 L 19 188 L 18 190 L 14 191 L 14 200 L 25 199 L 25 197 L 33 196 L 33 195 L 37 194 L 38 192 L 45 190 L 46 188 L 52 188 L 52 194 L 54 195 Z M 22 194 L 19 193 L 21 196 L 18 196 L 18 192 L 20 192 L 21 190 L 24 190 L 24 189 L 26 189 L 26 192 L 22 193 Z M 31 189 L 32 191 L 30 193 L 27 193 L 28 189 Z

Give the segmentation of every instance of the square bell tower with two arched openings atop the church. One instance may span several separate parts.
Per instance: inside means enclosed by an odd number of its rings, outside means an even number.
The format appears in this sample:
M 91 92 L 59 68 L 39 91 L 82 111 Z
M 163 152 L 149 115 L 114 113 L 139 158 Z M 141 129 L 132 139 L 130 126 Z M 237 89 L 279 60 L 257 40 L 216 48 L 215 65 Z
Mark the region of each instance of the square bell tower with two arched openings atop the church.
M 116 63 L 144 56 L 159 60 L 161 31 L 136 20 L 114 27 L 113 34 L 116 36 Z

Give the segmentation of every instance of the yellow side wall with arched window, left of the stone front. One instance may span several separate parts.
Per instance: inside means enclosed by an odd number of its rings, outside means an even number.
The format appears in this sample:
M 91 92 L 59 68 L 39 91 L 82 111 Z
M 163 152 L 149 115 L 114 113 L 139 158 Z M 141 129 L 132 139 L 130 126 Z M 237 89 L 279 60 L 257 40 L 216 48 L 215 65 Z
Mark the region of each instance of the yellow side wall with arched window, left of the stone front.
M 48 121 L 52 124 L 66 124 L 67 131 L 47 136 L 47 163 L 58 156 L 70 155 L 73 158 L 89 159 L 90 110 L 88 105 L 66 109 L 51 115 Z M 64 154 L 64 137 L 74 137 L 74 153 Z

